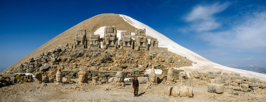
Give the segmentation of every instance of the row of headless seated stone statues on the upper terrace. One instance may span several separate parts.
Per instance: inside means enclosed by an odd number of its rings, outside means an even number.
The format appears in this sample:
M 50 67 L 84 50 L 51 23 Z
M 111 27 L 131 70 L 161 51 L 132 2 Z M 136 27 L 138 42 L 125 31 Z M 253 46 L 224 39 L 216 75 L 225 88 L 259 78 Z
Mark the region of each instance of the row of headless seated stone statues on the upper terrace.
M 100 38 L 99 34 L 93 34 L 89 36 L 89 40 L 86 37 L 86 29 L 77 29 L 76 36 L 74 38 L 74 45 L 67 44 L 69 49 L 72 48 L 101 48 L 101 42 L 103 42 L 103 49 L 118 49 L 120 42 L 120 49 L 137 49 L 137 50 L 166 50 L 167 48 L 158 47 L 158 41 L 156 38 L 150 40 L 150 46 L 145 34 L 145 29 L 135 30 L 135 39 L 132 39 L 130 31 L 121 31 L 121 39 L 118 41 L 116 36 L 117 30 L 114 26 L 106 26 L 104 28 L 104 37 Z M 87 42 L 89 46 L 87 46 Z

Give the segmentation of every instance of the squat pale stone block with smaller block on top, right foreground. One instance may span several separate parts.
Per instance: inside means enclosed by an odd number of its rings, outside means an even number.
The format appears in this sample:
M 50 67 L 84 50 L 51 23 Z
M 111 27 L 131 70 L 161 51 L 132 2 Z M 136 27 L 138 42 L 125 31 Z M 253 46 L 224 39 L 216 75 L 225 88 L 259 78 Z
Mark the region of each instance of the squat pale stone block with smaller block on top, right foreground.
M 223 93 L 223 84 L 215 84 L 209 83 L 208 84 L 208 92 L 215 92 L 215 93 Z

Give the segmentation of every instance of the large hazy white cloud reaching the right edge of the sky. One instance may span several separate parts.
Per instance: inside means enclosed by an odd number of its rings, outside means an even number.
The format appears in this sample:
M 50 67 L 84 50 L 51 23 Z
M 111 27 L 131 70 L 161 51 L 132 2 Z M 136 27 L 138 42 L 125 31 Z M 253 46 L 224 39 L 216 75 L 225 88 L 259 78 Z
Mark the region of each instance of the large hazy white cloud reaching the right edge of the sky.
M 227 31 L 204 32 L 198 37 L 213 46 L 262 51 L 266 48 L 266 12 L 247 16 Z

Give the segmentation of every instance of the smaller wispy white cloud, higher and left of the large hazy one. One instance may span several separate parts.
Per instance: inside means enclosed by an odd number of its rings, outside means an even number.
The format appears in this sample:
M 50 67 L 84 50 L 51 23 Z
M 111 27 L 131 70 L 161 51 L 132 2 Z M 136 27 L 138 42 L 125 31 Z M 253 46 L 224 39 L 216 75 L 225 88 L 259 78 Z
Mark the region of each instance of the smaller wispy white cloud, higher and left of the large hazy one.
M 192 12 L 190 12 L 185 20 L 192 22 L 192 31 L 210 31 L 220 26 L 220 23 L 215 21 L 214 14 L 224 11 L 230 3 L 213 4 L 211 6 L 195 6 Z

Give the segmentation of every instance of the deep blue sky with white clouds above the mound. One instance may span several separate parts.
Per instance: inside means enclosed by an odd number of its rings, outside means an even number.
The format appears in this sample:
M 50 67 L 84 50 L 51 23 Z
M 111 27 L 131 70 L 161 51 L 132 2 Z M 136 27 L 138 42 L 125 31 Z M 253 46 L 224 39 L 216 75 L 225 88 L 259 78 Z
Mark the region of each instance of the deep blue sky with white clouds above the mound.
M 0 0 L 0 69 L 98 14 L 124 14 L 221 65 L 266 66 L 266 1 Z

